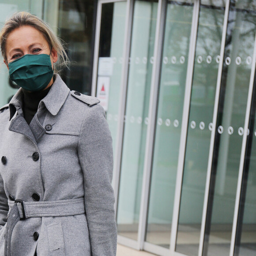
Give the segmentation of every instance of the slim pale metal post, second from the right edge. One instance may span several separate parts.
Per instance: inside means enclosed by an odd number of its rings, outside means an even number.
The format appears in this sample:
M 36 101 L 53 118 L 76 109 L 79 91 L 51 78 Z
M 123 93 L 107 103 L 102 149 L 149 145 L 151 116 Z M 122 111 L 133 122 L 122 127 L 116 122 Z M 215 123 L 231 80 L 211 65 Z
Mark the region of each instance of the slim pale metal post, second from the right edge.
M 212 166 L 213 151 L 214 151 L 214 144 L 215 144 L 215 130 L 216 130 L 216 123 L 217 123 L 217 116 L 218 116 L 218 102 L 219 102 L 220 85 L 221 85 L 221 78 L 222 78 L 222 67 L 223 67 L 224 50 L 225 50 L 225 43 L 226 43 L 226 30 L 227 30 L 227 24 L 228 24 L 229 6 L 230 6 L 230 0 L 226 0 L 223 29 L 222 29 L 222 41 L 221 41 L 221 49 L 220 49 L 220 61 L 218 65 L 218 77 L 217 77 L 215 104 L 214 104 L 213 121 L 212 121 L 213 125 L 212 125 L 212 132 L 211 132 L 210 151 L 209 151 L 209 158 L 208 158 L 206 186 L 205 186 L 204 202 L 203 202 L 203 215 L 202 215 L 200 244 L 199 244 L 199 252 L 198 252 L 199 256 L 202 256 L 203 254 L 203 241 L 204 241 L 208 197 L 209 197 L 209 189 L 210 189 L 210 181 L 211 181 L 211 166 Z

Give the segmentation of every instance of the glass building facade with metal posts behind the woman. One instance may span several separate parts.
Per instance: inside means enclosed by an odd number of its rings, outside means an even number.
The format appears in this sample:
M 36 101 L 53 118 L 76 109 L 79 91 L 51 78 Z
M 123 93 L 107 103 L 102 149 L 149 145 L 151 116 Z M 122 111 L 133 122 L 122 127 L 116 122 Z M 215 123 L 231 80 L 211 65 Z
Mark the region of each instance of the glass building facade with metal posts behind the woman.
M 0 4 L 0 17 L 28 10 L 49 22 L 67 42 L 65 82 L 101 99 L 119 243 L 256 255 L 256 0 Z M 0 75 L 4 105 L 17 89 Z

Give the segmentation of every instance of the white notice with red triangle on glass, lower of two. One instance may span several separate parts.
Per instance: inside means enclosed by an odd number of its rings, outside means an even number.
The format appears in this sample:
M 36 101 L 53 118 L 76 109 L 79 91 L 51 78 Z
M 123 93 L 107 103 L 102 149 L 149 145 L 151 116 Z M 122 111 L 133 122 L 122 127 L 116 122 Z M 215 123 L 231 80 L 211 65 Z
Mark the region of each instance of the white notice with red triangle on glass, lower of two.
M 100 105 L 102 105 L 105 111 L 108 111 L 109 105 L 109 85 L 110 77 L 98 76 L 96 97 L 101 101 Z

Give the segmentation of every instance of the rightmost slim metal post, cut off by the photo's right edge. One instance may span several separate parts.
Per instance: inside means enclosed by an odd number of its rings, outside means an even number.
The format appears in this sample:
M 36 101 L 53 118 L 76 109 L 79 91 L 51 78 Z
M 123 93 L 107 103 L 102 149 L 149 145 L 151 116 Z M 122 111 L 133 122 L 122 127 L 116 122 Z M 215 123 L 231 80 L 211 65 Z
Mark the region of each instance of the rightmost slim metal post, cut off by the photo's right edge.
M 256 68 L 256 37 L 255 37 L 255 42 L 254 42 L 254 50 L 253 50 L 253 57 L 252 57 L 252 70 L 251 70 L 251 76 L 250 76 L 247 107 L 246 107 L 246 114 L 245 114 L 245 127 L 244 127 L 245 132 L 244 132 L 243 141 L 242 141 L 242 150 L 241 150 L 239 174 L 238 174 L 238 181 L 237 181 L 237 195 L 236 195 L 235 210 L 234 210 L 234 217 L 233 217 L 233 228 L 232 228 L 231 245 L 230 245 L 230 256 L 233 256 L 234 247 L 235 247 L 238 211 L 239 211 L 239 207 L 240 207 L 239 203 L 240 203 L 240 197 L 241 197 L 243 172 L 244 172 L 244 166 L 245 166 L 245 151 L 246 151 L 247 136 L 248 136 L 247 131 L 248 131 L 248 125 L 249 125 L 249 119 L 250 119 L 250 112 L 251 112 L 250 110 L 251 110 L 251 104 L 252 104 L 252 92 L 253 92 L 255 68 Z M 250 132 L 253 133 L 253 131 L 250 131 Z

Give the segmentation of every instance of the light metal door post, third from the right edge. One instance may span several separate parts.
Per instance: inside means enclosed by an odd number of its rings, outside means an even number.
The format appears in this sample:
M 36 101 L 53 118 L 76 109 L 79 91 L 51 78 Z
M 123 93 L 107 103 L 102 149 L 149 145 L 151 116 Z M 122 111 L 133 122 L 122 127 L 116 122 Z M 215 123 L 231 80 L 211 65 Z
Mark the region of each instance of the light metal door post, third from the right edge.
M 175 245 L 177 239 L 177 226 L 179 221 L 179 208 L 181 201 L 181 187 L 182 187 L 182 177 L 184 169 L 184 158 L 186 151 L 186 139 L 188 131 L 188 118 L 189 118 L 189 107 L 190 107 L 190 98 L 191 98 L 191 88 L 192 88 L 192 79 L 193 79 L 193 70 L 194 70 L 194 59 L 196 52 L 196 35 L 198 27 L 200 11 L 200 0 L 195 0 L 193 16 L 192 16 L 192 28 L 190 35 L 190 45 L 188 53 L 188 68 L 187 68 L 187 77 L 186 77 L 186 87 L 184 95 L 184 105 L 182 113 L 182 124 L 181 124 L 181 139 L 179 147 L 179 158 L 177 166 L 177 178 L 176 178 L 176 187 L 175 187 L 175 198 L 174 198 L 174 207 L 173 207 L 173 219 L 172 219 L 172 231 L 170 239 L 170 253 L 175 252 Z

